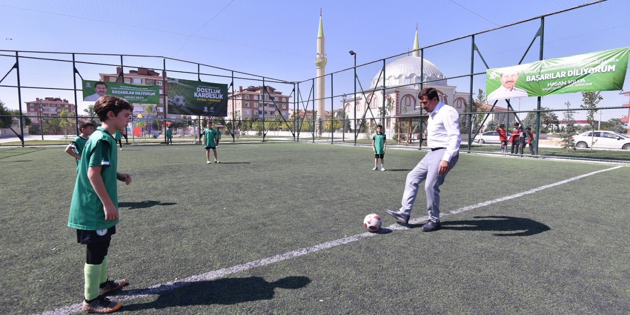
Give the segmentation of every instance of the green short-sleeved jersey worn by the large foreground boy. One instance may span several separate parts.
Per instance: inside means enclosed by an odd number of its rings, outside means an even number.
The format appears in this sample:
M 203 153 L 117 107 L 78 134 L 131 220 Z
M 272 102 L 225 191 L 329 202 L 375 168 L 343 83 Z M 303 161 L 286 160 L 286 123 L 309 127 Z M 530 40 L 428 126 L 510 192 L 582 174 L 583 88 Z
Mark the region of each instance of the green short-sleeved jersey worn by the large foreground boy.
M 107 195 L 112 199 L 116 209 L 118 209 L 118 187 L 117 168 L 118 151 L 116 150 L 116 140 L 112 134 L 103 127 L 98 127 L 89 136 L 81 160 L 77 169 L 77 180 L 74 184 L 72 202 L 70 204 L 70 214 L 68 216 L 68 226 L 73 229 L 96 231 L 108 229 L 118 223 L 116 221 L 105 221 L 103 212 L 103 202 L 101 202 L 94 187 L 88 178 L 88 169 L 93 166 L 101 166 L 101 176 L 105 183 Z

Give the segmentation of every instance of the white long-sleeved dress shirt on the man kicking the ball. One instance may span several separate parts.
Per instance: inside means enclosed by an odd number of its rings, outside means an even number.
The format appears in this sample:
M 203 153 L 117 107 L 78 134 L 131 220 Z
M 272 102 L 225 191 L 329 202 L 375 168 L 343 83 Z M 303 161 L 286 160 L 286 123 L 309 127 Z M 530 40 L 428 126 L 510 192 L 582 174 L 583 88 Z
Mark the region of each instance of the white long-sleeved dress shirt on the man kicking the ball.
M 441 101 L 429 113 L 427 123 L 427 145 L 434 149 L 445 147 L 442 159 L 450 162 L 450 158 L 458 154 L 462 137 L 459 134 L 459 113 L 455 108 L 444 105 Z

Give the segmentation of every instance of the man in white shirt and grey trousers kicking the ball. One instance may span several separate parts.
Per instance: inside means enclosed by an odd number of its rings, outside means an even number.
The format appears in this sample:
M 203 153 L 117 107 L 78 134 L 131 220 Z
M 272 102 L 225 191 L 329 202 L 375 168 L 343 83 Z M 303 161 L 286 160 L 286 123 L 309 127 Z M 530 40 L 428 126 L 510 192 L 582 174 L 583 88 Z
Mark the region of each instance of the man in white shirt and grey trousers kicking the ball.
M 427 145 L 430 152 L 407 175 L 404 186 L 402 207 L 399 210 L 387 209 L 387 213 L 398 221 L 407 224 L 411 208 L 418 195 L 418 185 L 425 181 L 427 212 L 429 220 L 421 227 L 423 232 L 440 229 L 440 185 L 447 173 L 459 159 L 459 114 L 455 108 L 445 105 L 438 98 L 437 90 L 425 88 L 418 94 L 422 108 L 429 113 Z

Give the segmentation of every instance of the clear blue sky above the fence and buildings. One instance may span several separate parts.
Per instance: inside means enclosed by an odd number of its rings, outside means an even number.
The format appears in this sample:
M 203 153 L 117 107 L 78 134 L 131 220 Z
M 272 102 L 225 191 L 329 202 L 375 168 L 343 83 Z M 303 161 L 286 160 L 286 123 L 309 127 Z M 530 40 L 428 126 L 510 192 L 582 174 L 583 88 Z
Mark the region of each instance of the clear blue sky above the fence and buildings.
M 329 73 L 352 67 L 353 59 L 348 50 L 357 52 L 358 64 L 406 52 L 413 47 L 416 24 L 420 47 L 425 47 L 583 3 L 587 1 L 2 0 L 0 49 L 158 55 L 302 81 L 316 76 L 314 57 L 320 8 L 323 9 L 326 72 Z M 609 0 L 547 18 L 544 58 L 627 46 L 630 22 L 626 14 L 629 10 L 628 1 Z M 493 31 L 479 35 L 476 42 L 490 67 L 510 66 L 518 63 L 538 26 L 539 21 L 533 21 Z M 524 62 L 538 60 L 538 45 L 534 43 Z M 470 39 L 466 38 L 427 49 L 425 59 L 447 77 L 467 74 L 470 72 L 470 46 Z M 81 58 L 120 63 L 120 57 Z M 0 57 L 0 75 L 4 76 L 14 62 L 14 58 Z M 476 57 L 475 63 L 476 72 L 485 70 L 481 59 Z M 125 64 L 162 67 L 161 60 L 126 59 Z M 358 71 L 365 88 L 381 64 Z M 72 88 L 72 71 L 67 64 L 31 61 L 21 62 L 21 67 L 23 85 Z M 171 67 L 196 71 L 196 67 L 192 69 L 176 62 L 169 62 L 167 68 Z M 98 72 L 113 73 L 115 68 L 81 66 L 79 71 L 84 79 L 98 79 Z M 169 76 L 190 78 L 175 72 L 169 72 Z M 2 84 L 14 84 L 14 77 L 12 72 Z M 216 77 L 203 79 L 229 83 Z M 475 93 L 478 88 L 484 89 L 484 80 L 484 76 L 475 77 Z M 626 80 L 624 90 L 629 89 L 628 82 Z M 248 84 L 255 83 L 237 81 L 235 85 Z M 468 91 L 468 84 L 468 78 L 449 80 L 449 85 L 457 86 L 458 91 Z M 289 86 L 270 85 L 290 93 Z M 304 98 L 308 95 L 304 92 L 307 88 L 310 85 L 302 87 Z M 352 93 L 352 73 L 336 76 L 333 88 L 335 95 Z M 328 88 L 327 95 L 329 93 Z M 602 105 L 627 103 L 627 98 L 618 93 L 606 92 L 607 103 Z M 30 101 L 46 96 L 74 100 L 72 92 L 36 89 L 23 89 L 22 99 Z M 0 100 L 9 108 L 18 108 L 14 88 L 0 88 Z M 524 100 L 523 106 L 533 106 L 535 100 Z M 546 100 L 552 101 L 544 101 L 543 106 L 561 105 L 567 100 L 575 106 L 581 103 L 578 95 L 547 96 Z M 87 105 L 79 101 L 79 112 Z

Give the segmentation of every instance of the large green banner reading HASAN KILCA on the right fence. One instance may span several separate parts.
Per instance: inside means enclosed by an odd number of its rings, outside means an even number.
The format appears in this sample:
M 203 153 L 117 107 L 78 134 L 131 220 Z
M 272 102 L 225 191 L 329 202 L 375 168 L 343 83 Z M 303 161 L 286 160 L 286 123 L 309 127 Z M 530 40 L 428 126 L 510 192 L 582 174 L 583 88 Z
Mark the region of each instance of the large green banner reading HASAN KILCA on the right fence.
M 488 101 L 621 90 L 630 47 L 541 60 L 486 71 Z

